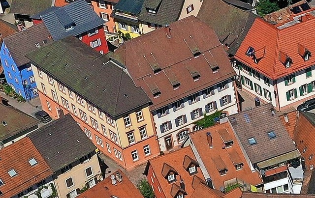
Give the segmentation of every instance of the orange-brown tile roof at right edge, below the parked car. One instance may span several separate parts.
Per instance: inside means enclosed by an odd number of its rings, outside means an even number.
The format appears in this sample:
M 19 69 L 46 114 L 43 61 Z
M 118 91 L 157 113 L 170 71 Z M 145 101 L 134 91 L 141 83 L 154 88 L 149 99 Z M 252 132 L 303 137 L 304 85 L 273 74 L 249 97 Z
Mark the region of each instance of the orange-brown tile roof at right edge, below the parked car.
M 310 165 L 315 166 L 315 140 L 313 138 L 315 132 L 314 113 L 299 112 L 296 127 L 294 130 L 295 146 L 305 159 L 306 169 L 310 170 Z M 311 157 L 312 156 L 312 157 Z M 311 158 L 311 159 L 310 159 Z

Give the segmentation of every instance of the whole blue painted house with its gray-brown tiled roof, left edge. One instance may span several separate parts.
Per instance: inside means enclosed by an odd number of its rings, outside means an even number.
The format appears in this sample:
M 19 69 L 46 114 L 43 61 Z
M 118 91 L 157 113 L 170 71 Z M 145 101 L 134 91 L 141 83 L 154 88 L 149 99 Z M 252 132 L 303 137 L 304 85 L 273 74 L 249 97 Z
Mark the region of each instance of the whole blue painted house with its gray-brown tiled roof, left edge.
M 0 50 L 6 82 L 26 100 L 38 96 L 31 63 L 26 54 L 52 42 L 43 23 L 3 39 Z

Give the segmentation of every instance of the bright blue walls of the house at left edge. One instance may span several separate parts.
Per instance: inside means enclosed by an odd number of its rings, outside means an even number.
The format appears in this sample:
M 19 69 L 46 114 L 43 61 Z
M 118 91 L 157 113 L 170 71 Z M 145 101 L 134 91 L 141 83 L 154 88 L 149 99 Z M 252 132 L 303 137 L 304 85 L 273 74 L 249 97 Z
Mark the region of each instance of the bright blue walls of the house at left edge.
M 6 82 L 15 89 L 15 92 L 22 95 L 23 98 L 27 100 L 37 97 L 38 93 L 36 83 L 33 78 L 31 64 L 16 65 L 13 58 L 14 57 L 11 57 L 9 50 L 6 48 L 5 43 L 2 42 L 0 60 Z M 33 80 L 33 82 L 31 82 L 31 80 Z M 34 94 L 34 92 L 37 94 Z

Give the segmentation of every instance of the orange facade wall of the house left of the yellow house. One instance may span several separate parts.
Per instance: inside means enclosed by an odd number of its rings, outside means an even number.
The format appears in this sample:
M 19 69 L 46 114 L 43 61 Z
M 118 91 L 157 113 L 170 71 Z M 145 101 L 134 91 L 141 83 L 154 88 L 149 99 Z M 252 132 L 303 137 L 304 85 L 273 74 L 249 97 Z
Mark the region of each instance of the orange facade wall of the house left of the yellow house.
M 101 13 L 106 13 L 109 16 L 109 21 L 105 22 L 104 25 L 106 25 L 108 27 L 108 31 L 109 32 L 115 32 L 114 31 L 114 27 L 115 27 L 115 22 L 114 19 L 112 17 L 110 17 L 110 14 L 112 13 L 112 7 L 114 7 L 115 3 L 110 3 L 110 2 L 105 2 L 107 4 L 107 9 L 100 7 L 98 0 L 92 0 L 92 5 L 93 5 L 93 10 L 95 11 L 95 13 L 102 18 Z

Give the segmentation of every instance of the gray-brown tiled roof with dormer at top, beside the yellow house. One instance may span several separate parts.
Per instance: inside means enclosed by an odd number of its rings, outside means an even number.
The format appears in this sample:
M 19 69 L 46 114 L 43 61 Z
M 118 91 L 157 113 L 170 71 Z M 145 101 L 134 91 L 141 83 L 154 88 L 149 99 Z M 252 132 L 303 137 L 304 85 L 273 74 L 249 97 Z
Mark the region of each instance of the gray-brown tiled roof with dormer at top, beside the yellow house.
M 158 7 L 157 14 L 149 14 L 146 8 L 156 6 L 158 1 L 162 2 Z M 185 0 L 145 0 L 138 19 L 139 21 L 154 23 L 161 26 L 173 23 L 178 20 L 184 2 Z

